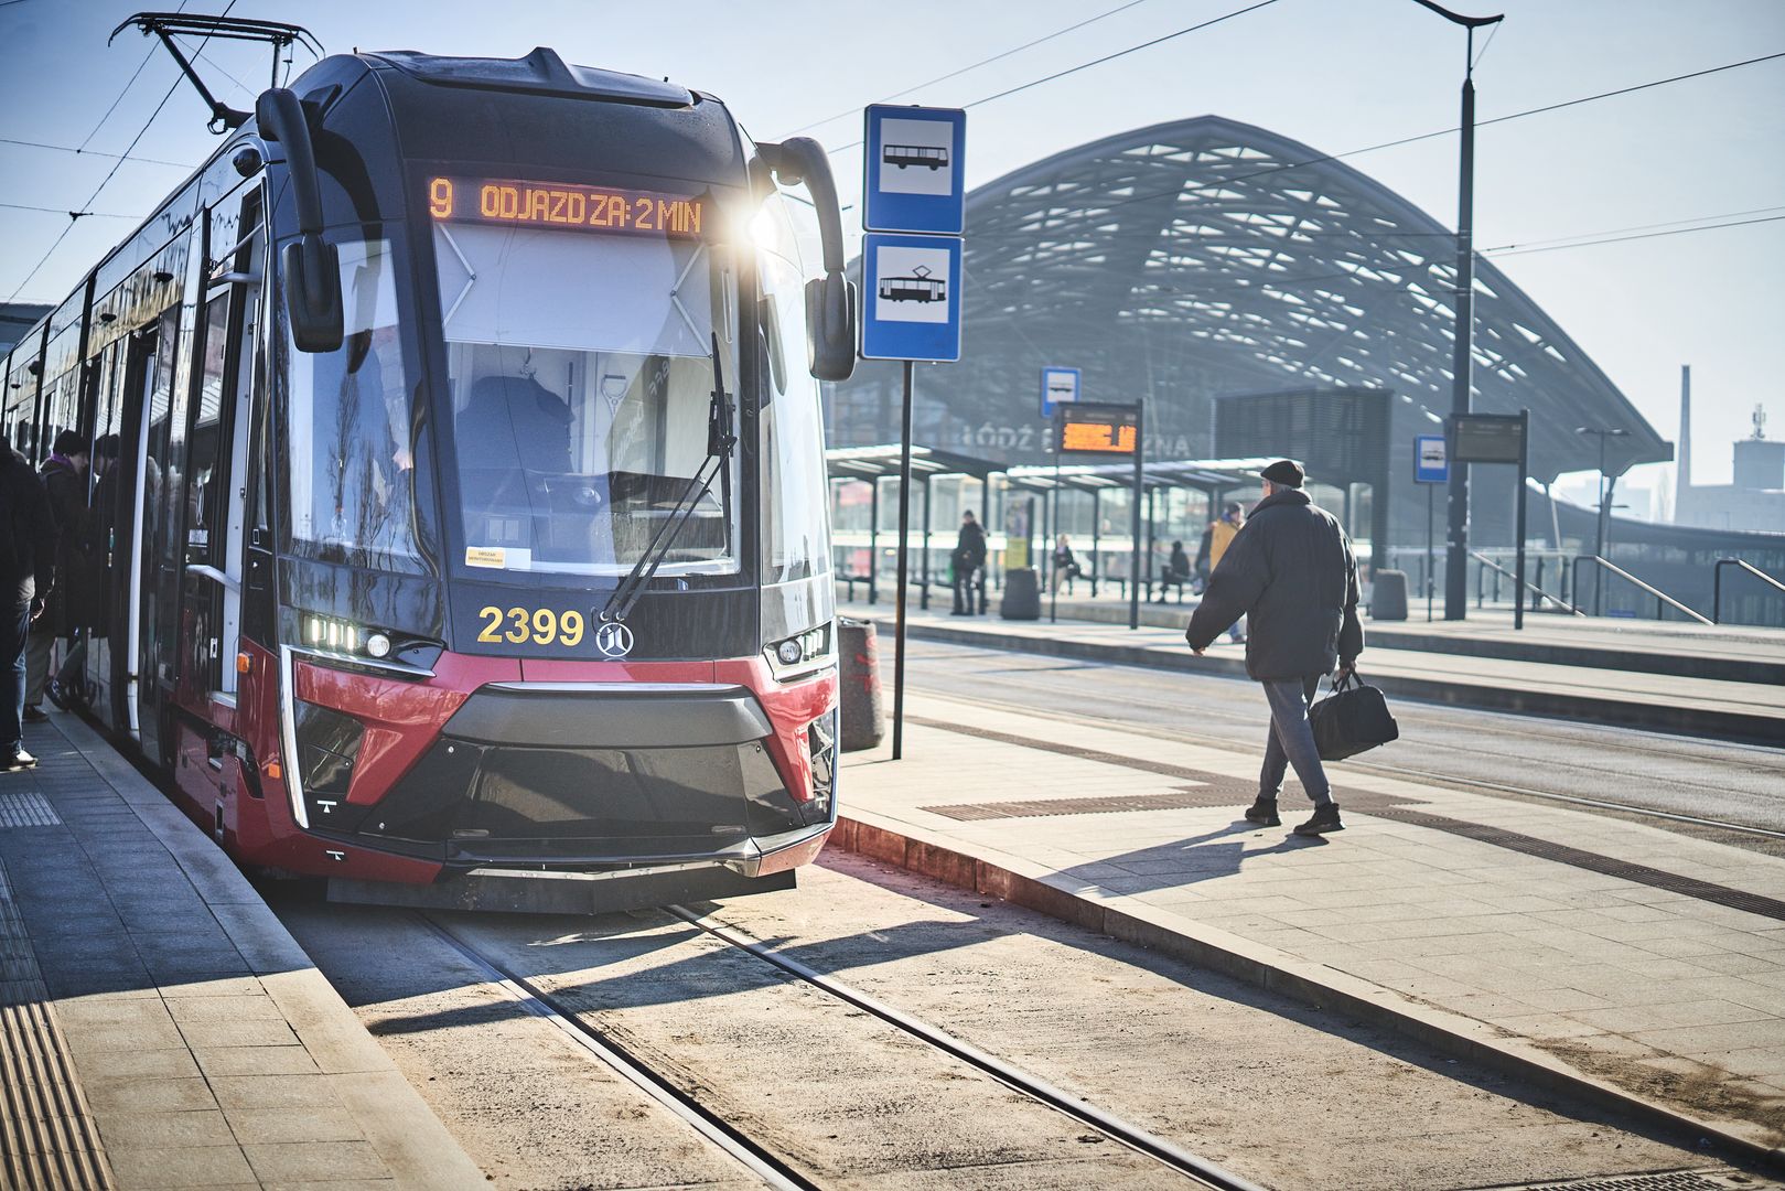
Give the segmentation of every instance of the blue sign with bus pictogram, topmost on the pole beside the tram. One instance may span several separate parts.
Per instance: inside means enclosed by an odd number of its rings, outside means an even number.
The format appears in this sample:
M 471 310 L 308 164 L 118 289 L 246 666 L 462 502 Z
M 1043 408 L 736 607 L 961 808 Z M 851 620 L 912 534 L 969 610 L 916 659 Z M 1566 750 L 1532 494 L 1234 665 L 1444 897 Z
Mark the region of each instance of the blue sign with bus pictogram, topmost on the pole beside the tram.
M 959 107 L 868 109 L 862 227 L 960 236 L 966 225 L 967 114 Z

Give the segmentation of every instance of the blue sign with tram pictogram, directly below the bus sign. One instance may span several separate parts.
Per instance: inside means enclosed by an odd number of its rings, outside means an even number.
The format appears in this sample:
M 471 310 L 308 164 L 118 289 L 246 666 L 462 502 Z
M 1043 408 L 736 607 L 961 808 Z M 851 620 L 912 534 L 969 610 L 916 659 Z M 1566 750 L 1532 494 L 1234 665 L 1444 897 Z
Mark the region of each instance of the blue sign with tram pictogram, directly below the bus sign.
M 862 359 L 960 359 L 960 237 L 862 237 Z

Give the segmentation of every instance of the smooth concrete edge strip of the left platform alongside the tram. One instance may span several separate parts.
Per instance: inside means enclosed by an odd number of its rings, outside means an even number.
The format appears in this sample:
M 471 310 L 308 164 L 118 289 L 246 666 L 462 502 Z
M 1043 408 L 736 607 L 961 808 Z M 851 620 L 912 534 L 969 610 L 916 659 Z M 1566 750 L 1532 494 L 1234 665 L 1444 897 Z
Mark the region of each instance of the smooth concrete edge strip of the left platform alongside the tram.
M 223 850 L 91 725 L 77 716 L 57 716 L 55 727 L 184 870 L 394 1175 L 394 1186 L 416 1191 L 487 1187 L 484 1171 L 409 1086 Z

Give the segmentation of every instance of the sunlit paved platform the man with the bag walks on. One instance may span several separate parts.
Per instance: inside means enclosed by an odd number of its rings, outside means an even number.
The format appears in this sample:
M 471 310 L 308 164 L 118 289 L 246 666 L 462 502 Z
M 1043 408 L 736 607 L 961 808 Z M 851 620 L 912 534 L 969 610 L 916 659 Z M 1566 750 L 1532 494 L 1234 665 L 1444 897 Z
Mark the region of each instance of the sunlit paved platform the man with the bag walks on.
M 1785 859 L 1344 762 L 1301 839 L 1260 750 L 907 695 L 834 843 L 1785 1164 Z

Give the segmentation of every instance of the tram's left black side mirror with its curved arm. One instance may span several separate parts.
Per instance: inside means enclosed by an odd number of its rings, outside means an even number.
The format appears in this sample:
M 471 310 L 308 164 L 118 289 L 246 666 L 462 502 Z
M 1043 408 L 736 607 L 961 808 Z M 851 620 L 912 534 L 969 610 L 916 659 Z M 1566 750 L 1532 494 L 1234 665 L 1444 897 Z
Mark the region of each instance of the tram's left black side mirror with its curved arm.
M 298 239 L 280 259 L 286 279 L 286 312 L 291 341 L 300 352 L 334 352 L 341 346 L 341 261 L 321 237 L 323 198 L 316 179 L 316 150 L 303 104 L 286 87 L 271 87 L 255 100 L 253 118 L 261 139 L 277 143 L 291 175 L 291 200 L 298 209 Z

